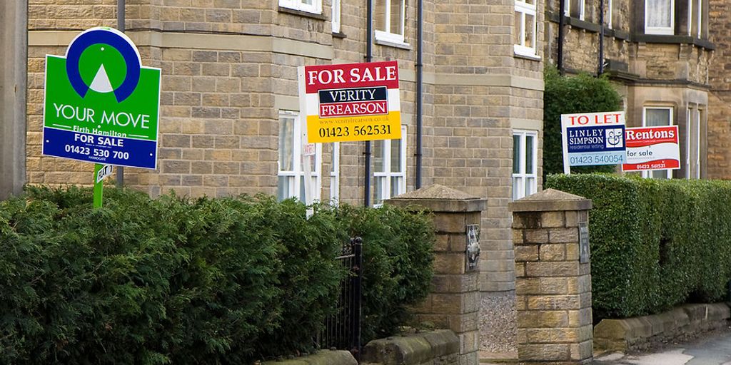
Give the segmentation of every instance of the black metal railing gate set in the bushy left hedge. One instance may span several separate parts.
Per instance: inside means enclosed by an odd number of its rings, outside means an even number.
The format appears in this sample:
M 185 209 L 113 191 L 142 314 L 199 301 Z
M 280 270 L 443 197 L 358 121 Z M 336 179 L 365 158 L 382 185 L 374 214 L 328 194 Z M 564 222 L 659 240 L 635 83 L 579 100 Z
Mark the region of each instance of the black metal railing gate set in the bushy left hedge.
M 317 336 L 317 342 L 320 348 L 349 350 L 360 361 L 363 240 L 360 237 L 350 239 L 337 259 L 350 274 L 341 283 L 337 310 L 325 320 L 325 329 Z

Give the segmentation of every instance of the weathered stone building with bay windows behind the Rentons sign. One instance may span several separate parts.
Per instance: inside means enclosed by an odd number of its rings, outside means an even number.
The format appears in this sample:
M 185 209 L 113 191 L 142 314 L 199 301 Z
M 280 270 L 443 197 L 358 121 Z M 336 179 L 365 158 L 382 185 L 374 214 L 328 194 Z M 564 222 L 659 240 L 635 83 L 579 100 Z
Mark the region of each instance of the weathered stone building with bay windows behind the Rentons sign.
M 709 176 L 713 160 L 709 74 L 718 68 L 711 66 L 714 44 L 709 28 L 714 27 L 708 26 L 708 0 L 566 1 L 564 71 L 609 74 L 623 96 L 629 127 L 678 126 L 681 169 L 652 172 L 651 177 Z M 546 4 L 546 52 L 553 64 L 559 58 L 559 7 L 559 0 Z

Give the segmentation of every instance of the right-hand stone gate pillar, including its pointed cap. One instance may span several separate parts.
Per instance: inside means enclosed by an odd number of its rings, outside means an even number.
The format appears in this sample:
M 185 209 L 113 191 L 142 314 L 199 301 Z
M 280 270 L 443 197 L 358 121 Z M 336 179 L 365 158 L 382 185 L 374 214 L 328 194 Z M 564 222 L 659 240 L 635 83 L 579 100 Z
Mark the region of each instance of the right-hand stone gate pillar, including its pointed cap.
M 547 189 L 510 203 L 510 209 L 518 361 L 591 363 L 591 200 Z

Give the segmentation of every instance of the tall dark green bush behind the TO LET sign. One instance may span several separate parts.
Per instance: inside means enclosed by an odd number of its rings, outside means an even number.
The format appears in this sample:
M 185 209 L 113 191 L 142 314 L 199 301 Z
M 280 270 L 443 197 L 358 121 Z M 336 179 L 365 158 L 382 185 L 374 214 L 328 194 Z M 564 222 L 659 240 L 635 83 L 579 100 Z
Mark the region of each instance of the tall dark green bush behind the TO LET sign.
M 613 112 L 622 109 L 622 98 L 606 76 L 592 77 L 582 73 L 575 77 L 561 76 L 555 66 L 543 72 L 543 179 L 548 174 L 564 172 L 561 142 L 561 114 L 580 112 Z M 578 166 L 572 173 L 613 172 L 615 166 Z

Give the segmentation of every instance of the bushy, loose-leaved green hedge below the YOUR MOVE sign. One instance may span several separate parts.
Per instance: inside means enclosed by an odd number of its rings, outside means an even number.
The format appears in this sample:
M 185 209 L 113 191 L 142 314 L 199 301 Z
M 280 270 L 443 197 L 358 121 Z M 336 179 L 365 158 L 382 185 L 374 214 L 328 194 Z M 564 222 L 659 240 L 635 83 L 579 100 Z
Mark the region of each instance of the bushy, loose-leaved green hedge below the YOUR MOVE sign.
M 428 216 L 305 210 L 112 188 L 98 210 L 80 188 L 0 202 L 0 363 L 249 364 L 310 351 L 353 234 L 365 241 L 366 333 L 390 333 L 400 323 L 383 318 L 405 320 L 431 282 Z

